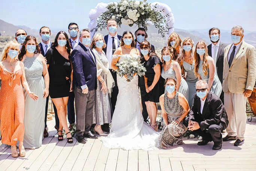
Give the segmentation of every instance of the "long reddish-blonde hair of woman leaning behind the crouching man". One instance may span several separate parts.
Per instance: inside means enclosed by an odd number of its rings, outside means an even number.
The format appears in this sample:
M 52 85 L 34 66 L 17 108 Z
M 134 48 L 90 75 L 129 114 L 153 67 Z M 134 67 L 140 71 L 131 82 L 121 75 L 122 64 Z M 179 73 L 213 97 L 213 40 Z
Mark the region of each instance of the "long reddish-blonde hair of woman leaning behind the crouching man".
M 200 62 L 200 56 L 199 56 L 198 53 L 196 53 L 197 45 L 199 45 L 199 44 L 203 45 L 204 50 L 205 50 L 203 63 L 202 63 L 202 69 L 203 69 L 203 72 L 204 72 L 204 76 L 206 76 L 208 74 L 207 69 L 209 68 L 208 59 L 207 59 L 207 57 L 208 57 L 207 45 L 204 41 L 199 41 L 198 43 L 196 43 L 195 51 L 194 51 L 194 61 L 195 61 L 194 73 L 195 73 L 195 77 L 198 77 L 198 68 L 199 68 L 199 62 Z

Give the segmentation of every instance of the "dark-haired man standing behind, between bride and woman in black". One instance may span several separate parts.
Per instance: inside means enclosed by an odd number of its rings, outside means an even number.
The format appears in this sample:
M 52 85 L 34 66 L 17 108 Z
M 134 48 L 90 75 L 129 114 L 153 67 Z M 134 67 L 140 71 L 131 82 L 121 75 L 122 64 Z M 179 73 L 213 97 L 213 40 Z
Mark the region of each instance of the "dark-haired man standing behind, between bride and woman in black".
M 147 39 L 146 30 L 142 27 L 139 27 L 135 31 L 135 37 L 136 37 L 136 39 L 135 39 L 136 48 L 139 49 L 139 51 L 140 51 L 140 43 Z M 155 46 L 151 45 L 151 48 L 155 52 Z M 144 77 L 138 77 L 138 86 L 140 87 L 142 116 L 143 116 L 144 121 L 147 122 L 147 118 L 148 118 L 149 114 L 147 113 L 147 107 L 146 107 L 145 100 L 144 100 L 144 97 L 147 94 L 146 87 L 145 87 L 145 82 L 144 82 Z

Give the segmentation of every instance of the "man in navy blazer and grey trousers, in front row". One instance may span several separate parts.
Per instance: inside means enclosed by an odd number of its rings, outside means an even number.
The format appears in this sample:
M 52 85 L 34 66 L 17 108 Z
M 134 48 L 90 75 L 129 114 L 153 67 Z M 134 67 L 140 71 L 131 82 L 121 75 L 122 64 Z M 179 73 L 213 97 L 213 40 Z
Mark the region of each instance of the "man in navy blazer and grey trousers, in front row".
M 80 42 L 71 52 L 71 61 L 76 105 L 76 136 L 79 143 L 86 143 L 85 138 L 98 138 L 90 131 L 97 88 L 97 68 L 95 55 L 89 47 L 90 31 L 83 29 L 79 34 Z

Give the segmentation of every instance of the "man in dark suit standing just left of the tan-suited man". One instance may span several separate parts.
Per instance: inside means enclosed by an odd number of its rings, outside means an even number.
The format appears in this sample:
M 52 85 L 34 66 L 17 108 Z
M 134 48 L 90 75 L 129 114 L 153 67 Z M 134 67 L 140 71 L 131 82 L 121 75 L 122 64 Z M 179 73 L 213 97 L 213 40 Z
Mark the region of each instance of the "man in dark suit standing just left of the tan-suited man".
M 208 55 L 214 59 L 216 71 L 220 82 L 223 81 L 223 59 L 224 59 L 224 49 L 227 46 L 226 44 L 220 42 L 220 30 L 219 28 L 211 28 L 209 30 L 209 37 L 211 44 L 207 46 Z M 220 100 L 224 104 L 224 92 L 222 91 L 220 95 Z

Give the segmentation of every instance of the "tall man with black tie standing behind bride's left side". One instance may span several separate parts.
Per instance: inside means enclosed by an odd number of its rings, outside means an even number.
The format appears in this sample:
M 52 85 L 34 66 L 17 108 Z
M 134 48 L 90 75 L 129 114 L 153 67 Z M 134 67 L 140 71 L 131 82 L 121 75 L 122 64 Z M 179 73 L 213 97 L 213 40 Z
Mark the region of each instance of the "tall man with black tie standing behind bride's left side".
M 114 54 L 116 49 L 119 47 L 119 44 L 120 44 L 119 41 L 122 39 L 122 36 L 118 35 L 116 32 L 117 28 L 118 28 L 118 25 L 115 19 L 109 19 L 107 21 L 107 30 L 109 31 L 109 34 L 104 36 L 104 40 L 107 46 L 106 48 L 103 49 L 109 61 L 109 70 L 113 76 L 113 79 L 115 80 L 115 87 L 113 87 L 112 93 L 111 93 L 111 108 L 112 108 L 111 117 L 113 116 L 115 106 L 116 106 L 118 86 L 116 82 L 116 72 L 110 67 L 110 65 L 112 61 L 112 55 Z M 105 123 L 103 126 L 101 126 L 101 128 L 104 132 L 109 132 L 109 124 Z

